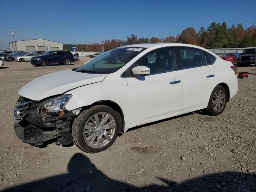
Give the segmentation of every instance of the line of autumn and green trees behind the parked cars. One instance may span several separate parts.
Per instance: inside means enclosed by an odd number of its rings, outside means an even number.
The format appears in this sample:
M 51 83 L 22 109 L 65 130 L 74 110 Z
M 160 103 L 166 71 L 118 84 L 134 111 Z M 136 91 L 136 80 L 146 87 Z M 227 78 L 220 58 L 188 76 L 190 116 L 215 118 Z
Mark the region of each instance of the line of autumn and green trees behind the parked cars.
M 77 51 L 102 51 L 119 47 L 121 42 L 127 43 L 155 43 L 155 42 L 176 42 L 198 45 L 204 48 L 244 48 L 256 46 L 256 26 L 252 24 L 244 28 L 242 24 L 232 24 L 228 28 L 226 22 L 222 24 L 213 22 L 210 26 L 200 28 L 198 32 L 193 27 L 186 28 L 175 36 L 138 38 L 135 34 L 127 36 L 126 40 L 112 39 L 104 40 L 102 43 L 92 44 L 64 44 L 64 50 L 72 50 L 72 46 L 77 47 Z

